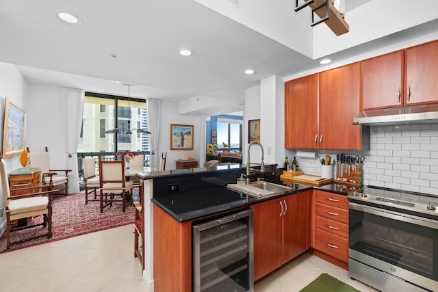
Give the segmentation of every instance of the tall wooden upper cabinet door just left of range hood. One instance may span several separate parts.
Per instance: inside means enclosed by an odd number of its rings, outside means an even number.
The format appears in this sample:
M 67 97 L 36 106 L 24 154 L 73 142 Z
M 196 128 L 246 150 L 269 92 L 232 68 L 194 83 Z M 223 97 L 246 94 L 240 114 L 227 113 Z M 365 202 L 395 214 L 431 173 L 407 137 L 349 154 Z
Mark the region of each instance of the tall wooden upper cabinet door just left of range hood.
M 352 124 L 361 105 L 361 63 L 320 73 L 321 149 L 361 149 L 361 131 Z

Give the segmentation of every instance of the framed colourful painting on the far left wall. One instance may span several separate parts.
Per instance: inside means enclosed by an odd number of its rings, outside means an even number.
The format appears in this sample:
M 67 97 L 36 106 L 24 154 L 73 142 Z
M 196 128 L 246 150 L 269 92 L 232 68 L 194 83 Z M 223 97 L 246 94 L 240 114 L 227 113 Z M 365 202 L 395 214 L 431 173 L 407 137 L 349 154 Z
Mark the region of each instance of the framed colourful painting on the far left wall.
M 6 98 L 3 124 L 3 157 L 21 155 L 25 149 L 26 114 Z

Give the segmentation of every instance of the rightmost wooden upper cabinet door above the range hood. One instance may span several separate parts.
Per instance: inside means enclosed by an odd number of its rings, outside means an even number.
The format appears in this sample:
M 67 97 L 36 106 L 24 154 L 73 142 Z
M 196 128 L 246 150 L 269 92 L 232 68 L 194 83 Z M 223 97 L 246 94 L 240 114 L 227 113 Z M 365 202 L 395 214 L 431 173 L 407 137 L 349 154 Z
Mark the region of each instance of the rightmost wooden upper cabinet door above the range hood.
M 406 105 L 438 102 L 438 41 L 404 50 Z

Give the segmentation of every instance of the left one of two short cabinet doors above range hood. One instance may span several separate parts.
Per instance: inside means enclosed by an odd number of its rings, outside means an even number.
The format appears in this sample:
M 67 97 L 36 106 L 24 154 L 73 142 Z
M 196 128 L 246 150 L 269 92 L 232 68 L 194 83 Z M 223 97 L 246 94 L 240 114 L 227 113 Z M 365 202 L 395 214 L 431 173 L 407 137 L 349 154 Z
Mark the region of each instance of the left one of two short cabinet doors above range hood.
M 362 110 L 404 104 L 403 57 L 403 51 L 396 51 L 361 62 Z

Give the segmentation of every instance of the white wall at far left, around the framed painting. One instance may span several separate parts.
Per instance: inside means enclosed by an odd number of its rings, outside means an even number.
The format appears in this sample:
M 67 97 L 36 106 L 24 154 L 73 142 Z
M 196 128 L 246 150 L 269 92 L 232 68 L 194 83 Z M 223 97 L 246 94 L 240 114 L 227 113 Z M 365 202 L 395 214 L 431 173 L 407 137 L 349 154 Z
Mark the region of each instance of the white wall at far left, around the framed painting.
M 21 109 L 27 110 L 25 106 L 25 96 L 27 91 L 27 82 L 21 75 L 21 72 L 15 65 L 6 64 L 0 62 L 0 137 L 3 137 L 3 120 L 5 113 L 5 98 L 9 98 L 15 105 L 21 107 Z M 28 122 L 27 122 L 28 123 Z M 29 123 L 28 123 L 29 124 Z M 0 142 L 3 152 L 3 140 Z M 6 168 L 8 172 L 21 168 L 19 162 L 19 156 L 10 157 L 5 159 Z M 0 188 L 0 193 L 3 193 Z M 3 198 L 3 194 L 1 194 Z M 0 200 L 0 208 L 4 207 L 3 199 Z M 0 234 L 5 229 L 6 215 L 3 213 L 3 217 L 0 217 Z

